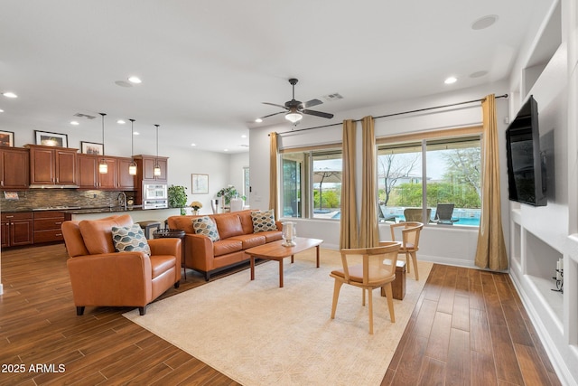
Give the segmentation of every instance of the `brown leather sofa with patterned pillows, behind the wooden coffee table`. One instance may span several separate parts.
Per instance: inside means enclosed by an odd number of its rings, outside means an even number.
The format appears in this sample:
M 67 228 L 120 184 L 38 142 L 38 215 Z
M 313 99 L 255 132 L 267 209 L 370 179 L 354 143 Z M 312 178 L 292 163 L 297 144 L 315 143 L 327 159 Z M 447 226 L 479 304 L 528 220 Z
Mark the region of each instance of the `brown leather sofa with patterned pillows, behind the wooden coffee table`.
M 283 225 L 275 221 L 277 231 L 253 232 L 251 210 L 211 214 L 209 217 L 217 225 L 220 240 L 211 241 L 207 236 L 195 234 L 192 219 L 195 215 L 171 216 L 171 229 L 185 231 L 183 260 L 187 268 L 202 272 L 205 279 L 219 270 L 229 268 L 249 260 L 245 249 L 281 240 Z

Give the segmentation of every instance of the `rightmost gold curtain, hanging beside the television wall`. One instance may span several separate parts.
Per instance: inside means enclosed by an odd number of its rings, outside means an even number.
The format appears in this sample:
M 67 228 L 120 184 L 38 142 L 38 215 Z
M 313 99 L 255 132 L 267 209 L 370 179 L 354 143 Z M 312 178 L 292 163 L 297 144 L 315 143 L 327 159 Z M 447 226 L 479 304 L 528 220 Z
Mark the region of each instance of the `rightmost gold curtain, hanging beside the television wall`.
M 476 266 L 492 270 L 508 269 L 508 255 L 502 231 L 499 193 L 499 146 L 496 97 L 491 94 L 481 103 L 484 126 L 482 152 L 482 193 Z

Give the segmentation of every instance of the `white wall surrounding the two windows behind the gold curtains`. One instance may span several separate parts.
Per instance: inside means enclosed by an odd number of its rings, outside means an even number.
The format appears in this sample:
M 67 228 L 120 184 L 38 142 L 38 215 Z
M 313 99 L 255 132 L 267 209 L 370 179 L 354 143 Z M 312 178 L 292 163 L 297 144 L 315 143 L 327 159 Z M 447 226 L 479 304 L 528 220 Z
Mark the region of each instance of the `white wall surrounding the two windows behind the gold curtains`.
M 421 99 L 399 101 L 394 104 L 359 108 L 357 110 L 340 112 L 342 118 L 359 119 L 371 115 L 378 117 L 382 115 L 415 110 L 419 108 L 430 108 L 435 106 L 459 103 L 467 100 L 481 99 L 488 94 L 496 95 L 507 93 L 507 83 L 499 82 L 484 85 L 474 89 L 462 89 L 452 93 L 445 93 Z M 508 240 L 508 177 L 505 164 L 505 136 L 507 125 L 504 119 L 508 116 L 508 100 L 497 99 L 497 113 L 499 118 L 500 132 L 500 157 L 502 159 L 502 219 L 505 230 L 505 239 Z M 306 119 L 306 118 L 304 118 Z M 417 131 L 435 130 L 450 127 L 468 127 L 480 125 L 482 121 L 480 102 L 464 105 L 457 108 L 443 108 L 439 110 L 426 111 L 423 113 L 397 116 L 395 118 L 379 118 L 375 122 L 376 137 L 385 137 L 396 134 L 412 133 Z M 304 126 L 303 126 L 304 127 Z M 299 127 L 302 128 L 302 127 Z M 281 135 L 279 144 L 281 147 L 310 146 L 328 143 L 341 142 L 341 125 L 335 127 L 322 127 L 309 131 L 291 132 L 290 126 L 266 127 L 262 129 L 251 129 L 250 161 L 253 190 L 261 198 L 261 203 L 265 207 L 268 205 L 268 184 L 269 184 L 269 137 L 268 133 L 277 131 L 278 133 L 289 132 Z M 361 124 L 358 124 L 358 157 L 360 151 Z M 260 149 L 254 151 L 254 149 Z M 263 149 L 266 149 L 263 150 Z M 361 181 L 360 168 L 361 161 L 358 159 L 358 206 L 361 202 Z M 339 221 L 331 220 L 295 220 L 298 223 L 297 229 L 300 235 L 306 235 L 324 240 L 323 247 L 339 248 L 340 224 Z M 390 240 L 389 226 L 380 225 L 380 237 L 382 240 Z M 426 227 L 422 232 L 420 240 L 420 259 L 440 262 L 442 264 L 452 264 L 463 267 L 474 267 L 478 230 L 471 227 Z

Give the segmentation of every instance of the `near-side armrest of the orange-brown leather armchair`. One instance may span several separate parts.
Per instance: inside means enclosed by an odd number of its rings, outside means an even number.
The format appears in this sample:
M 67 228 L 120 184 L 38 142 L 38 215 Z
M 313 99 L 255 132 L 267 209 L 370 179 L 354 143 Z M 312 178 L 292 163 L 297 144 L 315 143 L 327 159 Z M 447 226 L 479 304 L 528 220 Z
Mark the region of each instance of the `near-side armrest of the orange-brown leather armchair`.
M 146 306 L 152 301 L 153 270 L 144 252 L 79 256 L 68 259 L 67 266 L 77 306 Z

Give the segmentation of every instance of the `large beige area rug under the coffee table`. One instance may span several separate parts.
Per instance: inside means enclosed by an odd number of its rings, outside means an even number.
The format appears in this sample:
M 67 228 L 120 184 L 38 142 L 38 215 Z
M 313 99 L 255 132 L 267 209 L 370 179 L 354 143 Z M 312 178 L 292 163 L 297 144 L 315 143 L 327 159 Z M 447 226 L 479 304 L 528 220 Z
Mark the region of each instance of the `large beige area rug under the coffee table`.
M 267 261 L 168 297 L 125 316 L 195 358 L 246 386 L 379 385 L 404 333 L 432 263 L 419 262 L 420 278 L 406 280 L 406 297 L 394 300 L 396 323 L 387 301 L 374 291 L 374 334 L 368 334 L 368 307 L 361 290 L 341 287 L 331 320 L 332 268 L 337 251 L 322 249 L 315 268 L 314 249 L 284 259 L 284 287 L 279 265 Z M 401 258 L 401 255 L 400 255 Z

